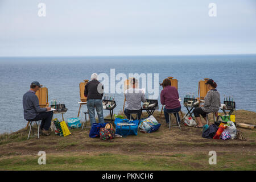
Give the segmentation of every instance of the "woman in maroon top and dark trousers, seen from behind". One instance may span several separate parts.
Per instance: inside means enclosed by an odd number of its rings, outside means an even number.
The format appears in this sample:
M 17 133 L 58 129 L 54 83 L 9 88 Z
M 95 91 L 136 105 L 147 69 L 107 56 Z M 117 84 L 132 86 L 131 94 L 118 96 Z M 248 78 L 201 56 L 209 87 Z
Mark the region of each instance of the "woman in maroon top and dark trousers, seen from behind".
M 177 112 L 177 119 L 180 122 L 179 111 L 181 109 L 179 101 L 179 93 L 174 86 L 171 86 L 171 81 L 166 78 L 163 80 L 162 84 L 163 90 L 160 94 L 160 101 L 164 106 L 164 118 L 166 118 L 167 127 L 169 127 L 169 114 L 171 112 Z M 175 115 L 175 114 L 174 114 Z M 175 115 L 176 117 L 176 115 Z

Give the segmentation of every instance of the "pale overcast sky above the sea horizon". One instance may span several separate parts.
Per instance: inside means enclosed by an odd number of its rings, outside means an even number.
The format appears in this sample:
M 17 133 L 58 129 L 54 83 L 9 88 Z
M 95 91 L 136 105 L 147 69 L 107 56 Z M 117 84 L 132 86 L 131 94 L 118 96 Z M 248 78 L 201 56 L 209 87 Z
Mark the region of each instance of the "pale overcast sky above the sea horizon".
M 255 0 L 0 0 L 0 57 L 244 53 L 256 53 Z

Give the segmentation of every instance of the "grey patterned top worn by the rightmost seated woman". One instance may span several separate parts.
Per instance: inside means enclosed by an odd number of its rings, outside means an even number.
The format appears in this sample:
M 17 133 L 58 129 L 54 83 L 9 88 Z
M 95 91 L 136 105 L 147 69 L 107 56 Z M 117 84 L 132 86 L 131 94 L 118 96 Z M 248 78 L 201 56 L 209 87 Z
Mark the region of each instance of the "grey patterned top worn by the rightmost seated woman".
M 220 93 L 216 89 L 209 90 L 204 97 L 204 106 L 202 110 L 206 113 L 215 113 L 220 109 Z

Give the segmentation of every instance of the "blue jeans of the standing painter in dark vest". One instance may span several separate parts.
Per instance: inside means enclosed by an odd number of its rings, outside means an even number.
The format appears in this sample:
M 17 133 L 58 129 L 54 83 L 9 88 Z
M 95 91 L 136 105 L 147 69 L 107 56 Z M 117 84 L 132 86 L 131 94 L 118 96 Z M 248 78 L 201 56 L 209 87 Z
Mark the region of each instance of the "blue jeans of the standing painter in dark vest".
M 103 107 L 102 107 L 101 99 L 90 99 L 90 100 L 88 100 L 87 101 L 87 108 L 88 108 L 88 111 L 89 111 L 89 118 L 90 118 L 90 125 L 91 126 L 92 126 L 92 123 L 96 123 L 94 108 L 96 109 L 96 112 L 98 114 L 98 122 L 99 123 L 104 123 Z

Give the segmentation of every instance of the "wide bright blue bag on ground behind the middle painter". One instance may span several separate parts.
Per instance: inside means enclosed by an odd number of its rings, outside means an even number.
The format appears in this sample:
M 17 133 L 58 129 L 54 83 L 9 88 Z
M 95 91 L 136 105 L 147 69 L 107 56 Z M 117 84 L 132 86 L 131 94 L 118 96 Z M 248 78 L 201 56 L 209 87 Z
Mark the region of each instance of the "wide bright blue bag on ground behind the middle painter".
M 139 120 L 115 118 L 115 134 L 126 137 L 127 135 L 138 135 Z

